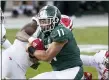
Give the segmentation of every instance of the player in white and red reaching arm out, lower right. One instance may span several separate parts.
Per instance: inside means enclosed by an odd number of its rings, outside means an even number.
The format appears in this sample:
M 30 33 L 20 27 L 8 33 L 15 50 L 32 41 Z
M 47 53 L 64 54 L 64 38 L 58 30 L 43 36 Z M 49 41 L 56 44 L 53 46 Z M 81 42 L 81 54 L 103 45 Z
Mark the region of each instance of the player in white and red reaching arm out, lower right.
M 98 71 L 98 79 L 108 80 L 109 76 L 109 51 L 100 50 L 94 56 L 80 56 L 85 66 L 95 67 Z

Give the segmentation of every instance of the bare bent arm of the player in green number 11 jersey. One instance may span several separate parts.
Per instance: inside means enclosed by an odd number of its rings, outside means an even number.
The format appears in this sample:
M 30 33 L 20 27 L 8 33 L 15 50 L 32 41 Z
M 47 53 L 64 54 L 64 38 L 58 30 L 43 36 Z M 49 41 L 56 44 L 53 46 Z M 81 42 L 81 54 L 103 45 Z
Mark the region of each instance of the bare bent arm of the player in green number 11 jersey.
M 67 40 L 61 43 L 52 42 L 46 51 L 36 50 L 33 55 L 39 60 L 51 61 L 61 51 L 61 49 L 67 42 Z

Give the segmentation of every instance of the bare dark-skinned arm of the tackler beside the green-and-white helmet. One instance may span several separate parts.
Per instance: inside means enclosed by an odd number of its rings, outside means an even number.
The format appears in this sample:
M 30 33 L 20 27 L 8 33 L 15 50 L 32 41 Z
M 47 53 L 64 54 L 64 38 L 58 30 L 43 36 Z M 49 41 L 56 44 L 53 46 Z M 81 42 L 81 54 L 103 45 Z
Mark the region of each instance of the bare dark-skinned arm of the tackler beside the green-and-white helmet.
M 36 21 L 32 21 L 28 24 L 26 24 L 17 34 L 16 34 L 16 38 L 27 42 L 29 37 L 36 31 L 37 29 L 37 23 Z

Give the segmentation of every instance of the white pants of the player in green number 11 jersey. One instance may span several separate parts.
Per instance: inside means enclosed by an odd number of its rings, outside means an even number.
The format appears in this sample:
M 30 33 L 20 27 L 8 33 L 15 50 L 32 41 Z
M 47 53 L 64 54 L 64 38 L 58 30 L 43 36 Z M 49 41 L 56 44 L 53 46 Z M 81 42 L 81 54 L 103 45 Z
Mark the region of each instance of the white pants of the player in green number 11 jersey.
M 62 71 L 51 71 L 41 73 L 31 79 L 75 79 L 80 67 L 69 68 Z

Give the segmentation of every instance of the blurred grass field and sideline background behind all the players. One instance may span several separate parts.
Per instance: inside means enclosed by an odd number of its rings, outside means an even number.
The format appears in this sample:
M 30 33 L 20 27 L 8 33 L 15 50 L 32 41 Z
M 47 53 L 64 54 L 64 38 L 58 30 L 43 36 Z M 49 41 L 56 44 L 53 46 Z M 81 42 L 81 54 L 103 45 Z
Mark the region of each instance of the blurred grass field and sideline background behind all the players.
M 73 19 L 73 33 L 81 54 L 94 55 L 96 51 L 108 49 L 108 13 L 109 1 L 0 1 L 5 15 L 7 38 L 13 43 L 16 32 L 31 21 L 40 8 L 55 5 L 62 14 Z M 43 68 L 44 66 L 44 68 Z M 27 78 L 39 73 L 51 71 L 49 64 L 42 62 L 37 70 L 27 71 Z M 84 66 L 84 70 L 97 79 L 95 68 Z

